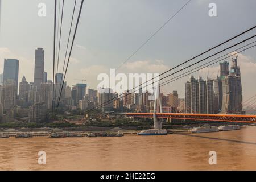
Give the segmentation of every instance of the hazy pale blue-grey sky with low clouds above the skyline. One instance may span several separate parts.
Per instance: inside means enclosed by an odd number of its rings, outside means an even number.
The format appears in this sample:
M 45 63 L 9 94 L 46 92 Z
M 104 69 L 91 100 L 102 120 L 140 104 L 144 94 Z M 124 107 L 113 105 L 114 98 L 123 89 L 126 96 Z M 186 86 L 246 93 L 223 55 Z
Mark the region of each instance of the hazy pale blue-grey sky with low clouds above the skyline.
M 46 3 L 46 17 L 38 16 L 40 2 Z M 65 0 L 64 4 L 61 70 L 74 2 Z M 79 0 L 77 2 L 80 4 Z M 186 2 L 187 0 L 85 1 L 68 67 L 68 85 L 79 82 L 74 79 L 84 78 L 90 88 L 96 89 L 98 73 L 109 73 L 110 68 L 119 67 Z M 208 5 L 212 2 L 217 5 L 217 17 L 208 15 Z M 2 0 L 0 72 L 3 72 L 4 58 L 19 59 L 19 81 L 23 74 L 27 81 L 34 81 L 35 49 L 43 47 L 45 71 L 48 72 L 48 80 L 52 80 L 53 7 L 53 0 Z M 255 0 L 192 0 L 146 46 L 122 65 L 118 72 L 162 73 L 255 26 L 255 7 Z M 256 31 L 252 31 L 242 38 L 255 33 Z M 243 98 L 246 100 L 256 94 L 256 49 L 239 55 L 238 64 L 241 67 Z M 193 75 L 206 78 L 208 71 L 210 76 L 216 77 L 218 64 Z M 172 82 L 164 86 L 162 91 L 170 93 L 178 90 L 180 96 L 184 97 L 184 82 L 188 78 L 189 76 Z

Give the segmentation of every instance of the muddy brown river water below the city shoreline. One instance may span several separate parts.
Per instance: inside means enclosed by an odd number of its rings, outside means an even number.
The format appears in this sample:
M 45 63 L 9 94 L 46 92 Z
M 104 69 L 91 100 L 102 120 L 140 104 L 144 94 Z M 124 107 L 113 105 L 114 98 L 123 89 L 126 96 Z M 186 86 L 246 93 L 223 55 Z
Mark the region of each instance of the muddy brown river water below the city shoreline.
M 46 165 L 38 152 L 46 152 Z M 209 151 L 217 152 L 210 165 Z M 217 133 L 0 138 L 1 170 L 256 170 L 256 126 Z

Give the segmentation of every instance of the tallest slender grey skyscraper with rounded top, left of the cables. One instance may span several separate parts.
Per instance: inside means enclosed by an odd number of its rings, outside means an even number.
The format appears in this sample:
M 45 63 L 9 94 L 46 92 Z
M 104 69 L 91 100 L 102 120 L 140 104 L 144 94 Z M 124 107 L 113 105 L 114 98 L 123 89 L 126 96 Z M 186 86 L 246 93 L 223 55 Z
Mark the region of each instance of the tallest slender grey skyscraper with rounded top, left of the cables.
M 34 84 L 38 91 L 40 90 L 40 84 L 44 82 L 43 78 L 44 78 L 44 50 L 43 48 L 37 48 L 35 50 Z

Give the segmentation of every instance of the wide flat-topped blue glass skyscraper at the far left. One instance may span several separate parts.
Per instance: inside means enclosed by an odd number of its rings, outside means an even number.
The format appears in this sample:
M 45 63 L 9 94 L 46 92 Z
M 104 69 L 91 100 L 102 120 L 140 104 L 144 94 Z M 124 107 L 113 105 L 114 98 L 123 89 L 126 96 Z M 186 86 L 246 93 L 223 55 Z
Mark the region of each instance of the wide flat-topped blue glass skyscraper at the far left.
M 18 89 L 18 76 L 19 76 L 19 60 L 17 59 L 5 59 L 3 65 L 3 83 L 6 80 L 14 80 L 16 86 L 16 95 Z

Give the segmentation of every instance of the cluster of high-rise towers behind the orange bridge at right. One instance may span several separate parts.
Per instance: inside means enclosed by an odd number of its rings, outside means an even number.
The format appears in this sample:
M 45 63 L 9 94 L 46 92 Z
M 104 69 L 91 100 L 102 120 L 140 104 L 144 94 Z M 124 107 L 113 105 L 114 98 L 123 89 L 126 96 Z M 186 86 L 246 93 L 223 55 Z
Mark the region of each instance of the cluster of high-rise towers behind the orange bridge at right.
M 220 63 L 220 77 L 203 80 L 193 76 L 185 83 L 185 112 L 200 114 L 243 114 L 242 85 L 237 56 L 232 66 Z

